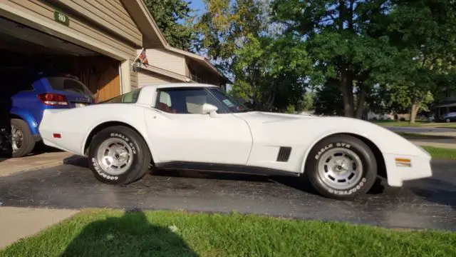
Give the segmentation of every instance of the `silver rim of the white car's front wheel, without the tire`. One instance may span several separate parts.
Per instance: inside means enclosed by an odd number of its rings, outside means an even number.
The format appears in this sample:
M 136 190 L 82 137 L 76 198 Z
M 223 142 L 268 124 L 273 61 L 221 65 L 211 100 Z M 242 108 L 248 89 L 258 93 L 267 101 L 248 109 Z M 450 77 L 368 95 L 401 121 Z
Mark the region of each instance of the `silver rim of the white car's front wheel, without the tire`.
M 338 190 L 352 188 L 361 180 L 361 158 L 347 148 L 326 151 L 318 161 L 318 176 L 327 186 Z

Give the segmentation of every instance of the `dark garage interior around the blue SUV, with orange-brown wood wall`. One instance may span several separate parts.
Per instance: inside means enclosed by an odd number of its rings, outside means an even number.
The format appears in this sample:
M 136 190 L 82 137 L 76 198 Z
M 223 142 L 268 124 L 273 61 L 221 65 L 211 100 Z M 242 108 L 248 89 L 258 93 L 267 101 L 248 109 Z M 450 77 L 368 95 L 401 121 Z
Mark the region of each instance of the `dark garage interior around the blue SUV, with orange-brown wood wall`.
M 95 103 L 121 94 L 120 61 L 3 17 L 0 56 L 0 156 L 6 158 L 12 156 L 11 96 L 31 88 L 22 80 L 28 75 L 76 76 L 93 93 Z

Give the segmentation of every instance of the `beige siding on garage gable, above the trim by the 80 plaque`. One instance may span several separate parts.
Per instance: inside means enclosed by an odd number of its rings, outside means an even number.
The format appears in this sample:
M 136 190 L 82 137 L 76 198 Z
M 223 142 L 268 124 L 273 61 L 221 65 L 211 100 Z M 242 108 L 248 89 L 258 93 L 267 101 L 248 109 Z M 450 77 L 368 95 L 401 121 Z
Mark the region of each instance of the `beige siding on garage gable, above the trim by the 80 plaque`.
M 106 0 L 60 0 L 62 4 L 95 21 L 100 26 L 104 26 L 138 46 L 142 45 L 142 34 L 133 19 L 125 15 L 128 13 L 123 6 L 121 8 L 118 6 L 120 1 L 109 1 L 112 3 L 110 4 Z

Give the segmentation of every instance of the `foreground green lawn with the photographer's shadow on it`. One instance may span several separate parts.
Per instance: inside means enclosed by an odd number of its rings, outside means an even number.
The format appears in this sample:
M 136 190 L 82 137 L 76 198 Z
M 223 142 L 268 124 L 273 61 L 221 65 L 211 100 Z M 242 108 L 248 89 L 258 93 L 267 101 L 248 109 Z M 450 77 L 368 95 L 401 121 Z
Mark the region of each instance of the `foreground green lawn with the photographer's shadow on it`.
M 92 210 L 18 241 L 0 256 L 456 256 L 456 233 L 240 214 Z

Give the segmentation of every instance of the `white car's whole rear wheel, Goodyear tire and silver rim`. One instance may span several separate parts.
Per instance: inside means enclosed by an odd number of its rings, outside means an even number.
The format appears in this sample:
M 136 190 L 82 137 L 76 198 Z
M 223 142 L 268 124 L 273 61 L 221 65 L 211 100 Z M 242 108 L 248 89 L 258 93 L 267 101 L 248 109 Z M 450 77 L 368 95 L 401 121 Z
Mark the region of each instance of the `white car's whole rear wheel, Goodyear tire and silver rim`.
M 142 137 L 125 126 L 98 132 L 90 143 L 89 167 L 99 181 L 128 184 L 142 178 L 149 169 L 150 151 Z

